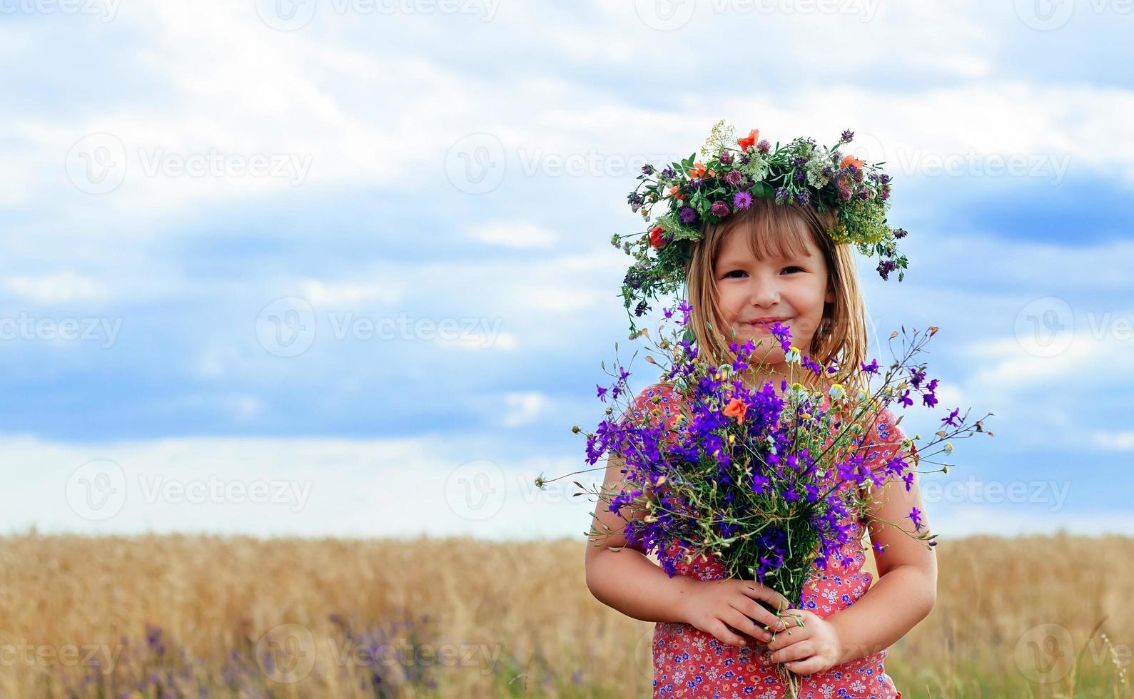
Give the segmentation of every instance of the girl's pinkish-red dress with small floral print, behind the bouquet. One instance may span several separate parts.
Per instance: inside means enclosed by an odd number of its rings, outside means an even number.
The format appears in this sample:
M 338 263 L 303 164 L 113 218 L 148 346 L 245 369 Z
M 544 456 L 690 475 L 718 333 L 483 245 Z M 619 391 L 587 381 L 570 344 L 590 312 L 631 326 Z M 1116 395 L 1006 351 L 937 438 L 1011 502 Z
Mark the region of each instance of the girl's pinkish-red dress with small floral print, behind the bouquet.
M 654 406 L 646 400 L 660 395 Z M 672 389 L 654 384 L 640 393 L 632 409 L 650 412 L 670 421 L 680 412 L 680 398 Z M 829 401 L 827 401 L 829 403 Z M 877 441 L 896 443 L 903 438 L 894 424 L 889 410 L 880 412 L 875 423 L 877 437 L 868 434 L 868 444 Z M 874 449 L 868 452 L 868 463 L 888 458 L 896 446 Z M 862 520 L 850 520 L 847 515 L 841 523 L 850 525 L 853 531 L 863 532 Z M 818 616 L 827 617 L 855 603 L 870 588 L 872 576 L 862 570 L 866 560 L 865 551 L 853 539 L 844 545 L 841 554 L 849 564 L 831 556 L 827 570 L 816 566 L 816 576 L 804 587 L 803 605 Z M 679 551 L 674 542 L 669 551 Z M 693 563 L 684 560 L 677 565 L 677 573 L 701 580 L 726 578 L 723 566 L 710 557 L 701 557 Z M 799 697 L 814 699 L 900 699 L 902 692 L 882 666 L 889 654 L 882 649 L 868 657 L 831 667 L 827 672 L 801 675 Z M 767 649 L 738 648 L 721 643 L 711 633 L 686 623 L 658 623 L 653 631 L 653 697 L 704 697 L 713 699 L 780 699 L 787 697 L 787 687 L 780 680 L 776 664 Z

